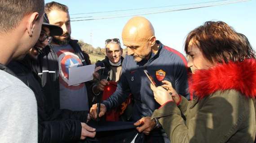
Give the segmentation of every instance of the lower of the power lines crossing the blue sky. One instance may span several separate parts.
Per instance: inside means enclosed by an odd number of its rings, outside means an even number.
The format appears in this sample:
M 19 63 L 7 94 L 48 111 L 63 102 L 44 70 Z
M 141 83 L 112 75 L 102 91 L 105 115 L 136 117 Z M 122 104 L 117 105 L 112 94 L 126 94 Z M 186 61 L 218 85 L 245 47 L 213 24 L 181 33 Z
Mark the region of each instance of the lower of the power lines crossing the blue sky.
M 219 0 L 223 1 L 223 0 Z M 90 20 L 101 20 L 101 19 L 111 19 L 111 18 L 121 18 L 121 17 L 134 17 L 134 16 L 141 16 L 141 15 L 149 15 L 149 14 L 157 14 L 157 13 L 169 13 L 169 12 L 174 12 L 174 11 L 182 11 L 182 10 L 189 10 L 189 9 L 196 9 L 196 8 L 206 8 L 206 7 L 214 7 L 214 6 L 219 6 L 219 5 L 225 5 L 225 4 L 234 4 L 234 3 L 239 3 L 239 2 L 246 2 L 250 0 L 236 0 L 236 1 L 231 1 L 231 2 L 225 2 L 225 3 L 219 3 L 219 4 L 212 4 L 212 5 L 205 5 L 205 6 L 194 6 L 194 7 L 187 7 L 187 8 L 177 8 L 177 9 L 167 9 L 167 10 L 158 10 L 156 12 L 143 12 L 141 14 L 131 14 L 127 13 L 126 15 L 120 15 L 119 16 L 112 16 L 112 17 L 92 17 L 90 19 L 81 19 L 81 20 L 71 20 L 71 21 L 90 21 Z M 84 17 L 83 17 L 84 18 Z M 89 18 L 89 17 L 88 17 Z

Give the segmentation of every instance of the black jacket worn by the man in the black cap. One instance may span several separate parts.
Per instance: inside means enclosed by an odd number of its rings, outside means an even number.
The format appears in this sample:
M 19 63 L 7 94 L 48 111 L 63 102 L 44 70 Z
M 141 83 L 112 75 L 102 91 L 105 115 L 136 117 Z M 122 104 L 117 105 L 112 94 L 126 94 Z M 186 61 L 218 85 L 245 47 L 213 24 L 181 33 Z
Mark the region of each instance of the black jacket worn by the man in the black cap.
M 35 93 L 38 110 L 38 142 L 63 143 L 80 139 L 81 123 L 86 122 L 88 111 L 50 109 L 39 82 L 32 72 L 32 61 L 26 56 L 22 61 L 12 61 L 8 67 Z

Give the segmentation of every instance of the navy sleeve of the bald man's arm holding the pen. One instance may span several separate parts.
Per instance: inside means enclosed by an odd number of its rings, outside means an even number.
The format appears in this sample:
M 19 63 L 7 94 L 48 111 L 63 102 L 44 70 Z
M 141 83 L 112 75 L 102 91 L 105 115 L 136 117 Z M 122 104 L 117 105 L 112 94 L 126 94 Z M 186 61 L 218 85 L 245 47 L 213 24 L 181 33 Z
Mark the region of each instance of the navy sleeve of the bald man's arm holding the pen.
M 107 110 L 121 105 L 131 93 L 128 81 L 125 77 L 125 74 L 128 72 L 128 70 L 126 70 L 126 61 L 128 61 L 127 58 L 125 58 L 124 62 L 122 63 L 122 75 L 118 81 L 115 93 L 113 93 L 106 101 L 102 102 L 102 104 L 106 106 Z

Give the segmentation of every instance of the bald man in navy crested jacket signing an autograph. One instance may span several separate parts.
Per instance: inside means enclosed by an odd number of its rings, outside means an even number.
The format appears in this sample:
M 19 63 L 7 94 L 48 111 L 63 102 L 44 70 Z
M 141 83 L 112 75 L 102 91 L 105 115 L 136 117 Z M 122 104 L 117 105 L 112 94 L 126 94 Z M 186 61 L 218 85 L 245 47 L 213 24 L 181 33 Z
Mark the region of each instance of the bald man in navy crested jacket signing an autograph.
M 144 70 L 149 72 L 157 86 L 162 85 L 163 80 L 168 80 L 179 94 L 189 97 L 186 59 L 178 51 L 157 41 L 153 26 L 144 17 L 130 19 L 124 26 L 122 38 L 124 46 L 128 48 L 128 56 L 122 65 L 117 90 L 108 100 L 102 102 L 99 116 L 123 103 L 129 93 L 132 93 L 132 120 L 137 121 L 135 126 L 140 126 L 137 130 L 146 134 L 144 142 L 169 143 L 158 119 L 151 118 L 153 111 L 161 107 L 154 100 L 150 80 Z M 97 105 L 93 105 L 91 108 L 92 118 L 96 118 L 96 107 Z

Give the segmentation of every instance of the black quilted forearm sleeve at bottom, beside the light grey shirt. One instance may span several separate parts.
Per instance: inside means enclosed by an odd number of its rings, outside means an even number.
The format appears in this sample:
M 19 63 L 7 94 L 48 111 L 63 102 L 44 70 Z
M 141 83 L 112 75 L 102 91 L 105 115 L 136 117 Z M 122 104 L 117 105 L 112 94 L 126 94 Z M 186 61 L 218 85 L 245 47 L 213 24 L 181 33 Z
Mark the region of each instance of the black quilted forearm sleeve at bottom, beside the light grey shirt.
M 38 126 L 38 143 L 63 143 L 79 140 L 81 123 L 77 120 L 41 122 Z

